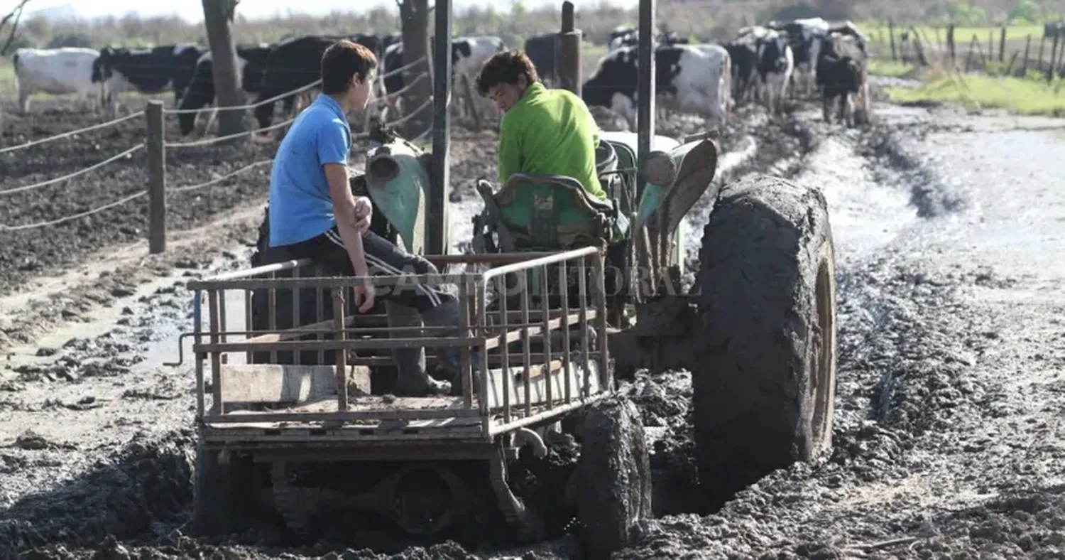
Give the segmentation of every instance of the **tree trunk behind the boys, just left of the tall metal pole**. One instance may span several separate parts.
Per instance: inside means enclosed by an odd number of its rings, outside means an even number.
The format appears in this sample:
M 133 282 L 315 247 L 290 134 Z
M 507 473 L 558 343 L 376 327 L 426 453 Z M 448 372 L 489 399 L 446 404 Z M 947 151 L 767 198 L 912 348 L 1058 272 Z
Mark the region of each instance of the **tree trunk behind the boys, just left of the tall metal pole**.
M 403 0 L 399 4 L 399 16 L 403 31 L 403 63 L 410 64 L 428 54 L 428 38 L 426 29 L 429 25 L 428 0 Z M 403 74 L 404 84 L 412 83 L 422 73 L 429 71 L 429 60 L 425 64 L 412 66 Z M 426 78 L 414 84 L 404 94 L 404 113 L 406 116 L 422 103 L 432 97 L 432 80 Z M 427 105 L 417 114 L 407 121 L 403 135 L 412 139 L 430 128 L 432 124 L 432 103 Z

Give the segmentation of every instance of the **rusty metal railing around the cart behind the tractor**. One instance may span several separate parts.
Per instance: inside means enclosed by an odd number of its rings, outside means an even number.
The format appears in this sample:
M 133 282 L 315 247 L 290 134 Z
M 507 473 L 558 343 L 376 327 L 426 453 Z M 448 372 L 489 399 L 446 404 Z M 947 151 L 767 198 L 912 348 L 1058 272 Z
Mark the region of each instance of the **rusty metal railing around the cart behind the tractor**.
M 515 253 L 491 255 L 427 256 L 435 265 L 490 263 L 501 265 L 484 272 L 458 274 L 404 274 L 370 278 L 327 277 L 321 269 L 306 275 L 314 266 L 306 259 L 290 260 L 249 270 L 219 274 L 190 282 L 197 294 L 194 314 L 193 353 L 196 356 L 196 411 L 204 422 L 316 422 L 384 419 L 428 419 L 449 417 L 481 418 L 481 435 L 515 430 L 564 414 L 601 398 L 613 387 L 606 332 L 606 294 L 604 286 L 604 252 L 585 247 L 561 253 Z M 591 261 L 591 262 L 589 262 Z M 592 290 L 587 286 L 589 266 Z M 291 277 L 278 277 L 286 274 Z M 536 279 L 529 279 L 534 276 Z M 575 277 L 575 282 L 571 282 Z M 508 288 L 508 278 L 514 278 Z M 556 278 L 552 289 L 552 277 Z M 460 302 L 458 333 L 440 334 L 432 326 L 380 326 L 382 315 L 361 315 L 349 310 L 351 293 L 357 285 L 370 282 L 375 287 L 414 285 L 456 285 Z M 576 284 L 575 293 L 571 293 Z M 301 309 L 300 290 L 313 289 L 314 321 L 300 324 L 307 316 Z M 279 290 L 291 292 L 292 317 L 295 325 L 278 326 Z M 243 291 L 247 307 L 243 331 L 227 330 L 226 292 Z M 593 293 L 589 294 L 589 291 Z M 202 329 L 199 294 L 206 292 L 209 329 Z M 332 318 L 324 317 L 324 293 L 332 297 Z M 251 329 L 252 304 L 265 298 L 267 329 Z M 281 293 L 284 293 L 282 291 Z M 573 300 L 576 301 L 573 301 Z M 492 300 L 492 301 L 490 301 Z M 534 300 L 536 302 L 534 303 Z M 509 306 L 517 301 L 520 310 Z M 534 309 L 539 307 L 539 309 Z M 387 323 L 386 323 L 387 324 Z M 572 349 L 571 327 L 579 329 L 583 346 Z M 453 327 L 454 329 L 454 327 Z M 433 333 L 437 333 L 436 335 Z M 594 333 L 590 336 L 590 333 Z M 409 335 L 409 336 L 408 336 Z M 244 340 L 234 340 L 243 336 Z M 313 337 L 313 339 L 306 339 Z M 207 341 L 204 341 L 204 338 Z M 560 340 L 558 340 L 560 339 Z M 593 340 L 591 340 L 593 339 Z M 595 343 L 594 352 L 589 350 Z M 556 358 L 553 345 L 560 342 Z M 519 356 L 511 352 L 520 343 Z M 532 352 L 539 343 L 540 352 Z M 424 347 L 427 362 L 439 361 L 428 355 L 431 348 L 460 347 L 462 396 L 450 405 L 404 406 L 387 410 L 362 410 L 358 399 L 348 395 L 348 367 L 353 365 L 394 365 L 390 350 Z M 355 356 L 348 355 L 356 352 Z M 308 352 L 317 366 L 326 366 L 326 353 L 333 354 L 333 383 L 337 412 L 244 412 L 226 414 L 226 390 L 223 366 L 225 356 L 245 353 L 249 363 L 277 364 L 279 354 L 291 354 L 292 365 L 308 362 Z M 257 357 L 258 356 L 258 357 Z M 268 356 L 268 357 L 265 357 Z M 206 410 L 206 371 L 211 368 L 211 410 Z M 288 362 L 288 358 L 285 359 Z M 474 362 L 477 362 L 476 368 Z M 477 371 L 475 372 L 474 369 Z M 234 382 L 240 384 L 239 382 Z M 248 382 L 250 383 L 250 382 Z M 332 397 L 332 394 L 329 395 Z M 410 398 L 413 402 L 420 398 Z M 432 399 L 432 398 L 428 398 Z M 437 401 L 441 398 L 437 397 Z

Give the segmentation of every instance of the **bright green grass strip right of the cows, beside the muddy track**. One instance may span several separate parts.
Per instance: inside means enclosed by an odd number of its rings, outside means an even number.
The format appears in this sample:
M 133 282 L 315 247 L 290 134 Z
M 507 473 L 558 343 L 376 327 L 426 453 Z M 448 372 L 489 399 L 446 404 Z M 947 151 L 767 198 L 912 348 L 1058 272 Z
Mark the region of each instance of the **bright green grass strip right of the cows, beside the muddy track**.
M 940 101 L 966 107 L 995 107 L 1026 115 L 1065 116 L 1065 80 L 1052 84 L 1032 79 L 978 74 L 950 76 L 917 89 L 888 87 L 895 102 Z

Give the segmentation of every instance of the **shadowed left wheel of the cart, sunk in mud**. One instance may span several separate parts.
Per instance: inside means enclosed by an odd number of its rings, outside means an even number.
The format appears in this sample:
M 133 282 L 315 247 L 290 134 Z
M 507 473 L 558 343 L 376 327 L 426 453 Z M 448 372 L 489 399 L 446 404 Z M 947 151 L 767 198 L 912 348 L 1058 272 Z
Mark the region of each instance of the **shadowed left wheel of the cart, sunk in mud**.
M 219 459 L 220 451 L 196 447 L 192 518 L 195 534 L 237 531 L 252 500 L 250 460 L 235 453 L 227 463 Z

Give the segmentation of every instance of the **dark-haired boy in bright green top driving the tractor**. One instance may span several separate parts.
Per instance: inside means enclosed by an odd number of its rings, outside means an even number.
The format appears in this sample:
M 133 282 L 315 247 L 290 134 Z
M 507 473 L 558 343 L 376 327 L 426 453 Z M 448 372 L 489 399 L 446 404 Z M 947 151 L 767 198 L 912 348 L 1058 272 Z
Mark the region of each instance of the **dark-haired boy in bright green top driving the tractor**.
M 521 51 L 492 57 L 477 77 L 477 90 L 503 111 L 499 182 L 514 173 L 566 175 L 601 201 L 606 192 L 595 173 L 599 125 L 585 101 L 567 90 L 548 90 Z

